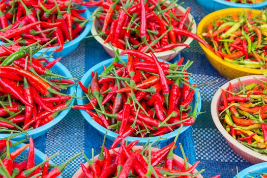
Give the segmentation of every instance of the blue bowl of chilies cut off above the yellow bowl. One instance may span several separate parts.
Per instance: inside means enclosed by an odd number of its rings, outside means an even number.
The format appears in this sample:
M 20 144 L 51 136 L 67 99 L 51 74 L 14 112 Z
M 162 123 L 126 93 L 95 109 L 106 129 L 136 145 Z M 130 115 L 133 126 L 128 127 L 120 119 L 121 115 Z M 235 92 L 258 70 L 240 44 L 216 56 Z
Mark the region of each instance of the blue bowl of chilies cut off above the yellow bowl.
M 196 2 L 209 13 L 227 8 L 263 9 L 267 6 L 266 0 L 196 0 Z

